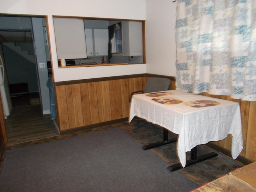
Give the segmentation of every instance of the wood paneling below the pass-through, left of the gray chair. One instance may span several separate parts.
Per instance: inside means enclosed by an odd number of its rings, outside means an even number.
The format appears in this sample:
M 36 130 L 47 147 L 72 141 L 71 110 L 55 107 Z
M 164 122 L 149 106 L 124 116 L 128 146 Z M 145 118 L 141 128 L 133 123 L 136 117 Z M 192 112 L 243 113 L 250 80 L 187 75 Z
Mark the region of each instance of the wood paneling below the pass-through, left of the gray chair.
M 60 131 L 128 118 L 130 93 L 145 84 L 135 77 L 56 86 Z

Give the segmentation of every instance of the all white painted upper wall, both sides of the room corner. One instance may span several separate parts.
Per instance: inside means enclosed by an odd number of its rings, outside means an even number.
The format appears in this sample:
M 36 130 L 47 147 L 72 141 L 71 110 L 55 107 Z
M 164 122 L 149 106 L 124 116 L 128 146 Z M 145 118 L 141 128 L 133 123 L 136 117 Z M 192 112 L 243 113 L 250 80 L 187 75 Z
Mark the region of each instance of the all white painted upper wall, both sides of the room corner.
M 11 0 L 1 2 L 0 13 L 47 16 L 54 78 L 60 82 L 146 72 L 174 76 L 175 6 L 171 0 Z M 58 68 L 53 15 L 146 20 L 147 65 Z

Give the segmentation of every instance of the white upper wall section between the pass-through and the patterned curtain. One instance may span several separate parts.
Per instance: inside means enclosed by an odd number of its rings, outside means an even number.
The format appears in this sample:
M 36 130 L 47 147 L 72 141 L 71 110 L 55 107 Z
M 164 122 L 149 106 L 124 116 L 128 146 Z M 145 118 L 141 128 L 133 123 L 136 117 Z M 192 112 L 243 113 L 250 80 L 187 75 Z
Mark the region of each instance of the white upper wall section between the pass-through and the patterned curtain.
M 176 3 L 146 0 L 147 73 L 175 76 Z

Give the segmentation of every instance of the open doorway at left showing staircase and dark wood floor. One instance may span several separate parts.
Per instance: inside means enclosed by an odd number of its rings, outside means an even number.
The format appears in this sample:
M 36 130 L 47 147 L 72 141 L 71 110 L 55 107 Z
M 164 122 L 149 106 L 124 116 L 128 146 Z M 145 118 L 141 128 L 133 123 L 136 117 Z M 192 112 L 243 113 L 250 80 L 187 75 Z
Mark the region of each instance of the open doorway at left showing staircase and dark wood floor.
M 47 86 L 51 64 L 45 18 L 0 16 L 0 46 L 12 105 L 4 111 L 8 145 L 58 135 Z

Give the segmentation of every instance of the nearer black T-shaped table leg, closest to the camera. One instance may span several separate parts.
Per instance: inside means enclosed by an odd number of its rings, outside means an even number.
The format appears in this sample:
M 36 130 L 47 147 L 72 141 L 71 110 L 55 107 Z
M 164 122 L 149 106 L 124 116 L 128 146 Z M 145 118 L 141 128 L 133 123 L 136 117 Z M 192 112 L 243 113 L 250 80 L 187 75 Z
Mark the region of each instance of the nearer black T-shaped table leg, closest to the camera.
M 197 146 L 192 148 L 190 160 L 186 161 L 186 167 L 218 156 L 218 153 L 210 152 L 208 154 L 204 154 L 204 155 L 201 155 L 199 157 L 196 157 L 196 153 L 197 153 L 196 151 L 197 151 Z M 177 163 L 177 164 L 169 166 L 168 170 L 176 171 L 176 170 L 181 169 L 181 168 L 183 168 L 182 165 L 180 163 Z

